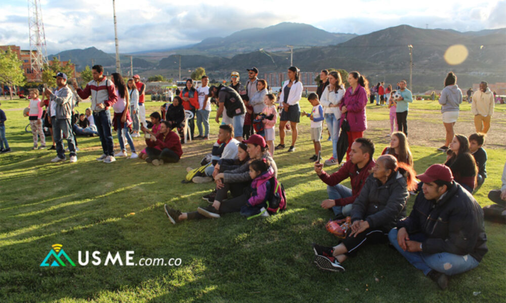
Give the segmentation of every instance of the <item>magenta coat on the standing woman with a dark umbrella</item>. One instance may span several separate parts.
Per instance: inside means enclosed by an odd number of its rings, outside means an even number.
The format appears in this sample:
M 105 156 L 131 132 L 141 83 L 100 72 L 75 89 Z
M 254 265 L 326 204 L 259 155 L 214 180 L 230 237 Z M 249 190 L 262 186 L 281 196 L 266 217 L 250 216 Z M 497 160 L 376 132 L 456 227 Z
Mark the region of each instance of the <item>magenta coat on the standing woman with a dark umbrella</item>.
M 350 123 L 350 131 L 359 132 L 367 129 L 367 116 L 365 115 L 365 106 L 367 105 L 367 93 L 365 88 L 358 85 L 355 92 L 352 93 L 352 88 L 348 87 L 343 102 L 341 102 L 340 109 L 346 106 L 346 114 L 341 117 L 341 124 L 343 124 L 343 117 L 346 117 Z

